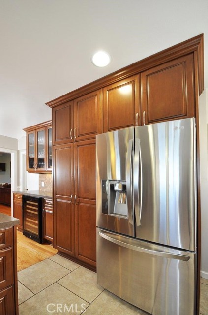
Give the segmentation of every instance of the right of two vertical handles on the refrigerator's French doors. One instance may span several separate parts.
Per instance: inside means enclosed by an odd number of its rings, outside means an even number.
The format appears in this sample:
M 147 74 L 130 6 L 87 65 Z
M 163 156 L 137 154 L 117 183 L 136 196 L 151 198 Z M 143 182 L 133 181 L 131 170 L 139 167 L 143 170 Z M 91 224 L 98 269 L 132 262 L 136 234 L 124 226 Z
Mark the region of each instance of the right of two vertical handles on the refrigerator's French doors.
M 135 153 L 134 153 L 134 207 L 135 207 L 135 217 L 136 225 L 141 225 L 141 202 L 142 202 L 142 183 L 139 182 L 142 179 L 141 171 L 139 173 L 139 163 L 141 162 L 140 154 L 140 139 L 136 138 L 135 140 Z M 141 169 L 141 167 L 140 167 Z M 140 192 L 139 192 L 140 186 Z M 140 197 L 140 200 L 139 200 Z

